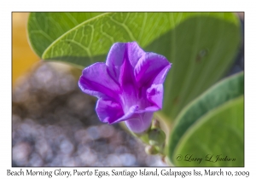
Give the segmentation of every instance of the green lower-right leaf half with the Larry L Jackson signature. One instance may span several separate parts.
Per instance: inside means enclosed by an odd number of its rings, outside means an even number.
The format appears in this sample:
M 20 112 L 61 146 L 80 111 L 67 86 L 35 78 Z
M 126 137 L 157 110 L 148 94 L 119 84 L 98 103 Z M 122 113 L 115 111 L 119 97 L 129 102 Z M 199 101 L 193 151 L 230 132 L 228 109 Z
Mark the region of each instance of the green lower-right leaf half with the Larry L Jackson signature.
M 203 116 L 178 143 L 173 164 L 244 166 L 243 101 L 242 95 Z

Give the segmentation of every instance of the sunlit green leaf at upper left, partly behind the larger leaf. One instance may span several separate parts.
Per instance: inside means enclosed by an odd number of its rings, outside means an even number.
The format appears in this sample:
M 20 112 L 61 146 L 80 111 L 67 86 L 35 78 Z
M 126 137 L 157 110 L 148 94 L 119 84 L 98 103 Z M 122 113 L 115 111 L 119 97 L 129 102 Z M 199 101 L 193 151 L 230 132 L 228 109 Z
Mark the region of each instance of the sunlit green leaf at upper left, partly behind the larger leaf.
M 44 50 L 57 38 L 99 14 L 102 13 L 31 13 L 27 32 L 32 49 L 42 57 Z

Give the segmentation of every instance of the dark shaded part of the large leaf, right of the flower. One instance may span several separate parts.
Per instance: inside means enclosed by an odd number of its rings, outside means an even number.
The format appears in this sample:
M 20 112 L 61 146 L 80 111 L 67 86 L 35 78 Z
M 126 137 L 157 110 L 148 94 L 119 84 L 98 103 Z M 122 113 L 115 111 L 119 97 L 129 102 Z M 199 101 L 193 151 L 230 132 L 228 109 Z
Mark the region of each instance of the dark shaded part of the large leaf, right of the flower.
M 223 77 L 235 59 L 240 36 L 240 26 L 235 22 L 201 15 L 184 21 L 149 45 L 172 62 L 160 113 L 175 119 L 183 107 Z M 170 49 L 157 48 L 157 43 L 169 43 Z

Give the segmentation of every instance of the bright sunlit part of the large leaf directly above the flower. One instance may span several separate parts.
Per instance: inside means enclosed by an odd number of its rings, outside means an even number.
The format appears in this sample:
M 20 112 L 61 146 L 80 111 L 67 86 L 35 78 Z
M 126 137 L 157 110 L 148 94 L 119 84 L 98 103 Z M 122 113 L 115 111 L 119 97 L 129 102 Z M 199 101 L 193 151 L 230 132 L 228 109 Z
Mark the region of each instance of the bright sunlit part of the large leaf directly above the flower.
M 152 43 L 183 20 L 195 14 L 179 16 L 171 22 L 170 13 L 105 13 L 76 26 L 44 51 L 44 60 L 66 61 L 81 68 L 105 61 L 116 42 L 137 41 L 142 47 Z M 65 50 L 63 50 L 65 49 Z

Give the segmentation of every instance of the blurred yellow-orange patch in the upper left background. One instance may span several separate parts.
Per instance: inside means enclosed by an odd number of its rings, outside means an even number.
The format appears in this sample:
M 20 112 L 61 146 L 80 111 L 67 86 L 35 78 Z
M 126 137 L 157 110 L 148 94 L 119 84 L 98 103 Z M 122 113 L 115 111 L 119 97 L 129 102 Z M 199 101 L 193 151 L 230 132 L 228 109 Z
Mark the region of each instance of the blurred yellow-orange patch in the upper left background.
M 17 78 L 32 67 L 39 57 L 32 51 L 26 37 L 26 23 L 28 13 L 13 13 L 12 14 L 12 84 L 15 85 Z

